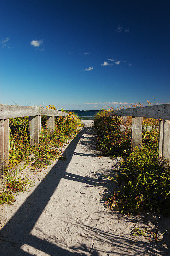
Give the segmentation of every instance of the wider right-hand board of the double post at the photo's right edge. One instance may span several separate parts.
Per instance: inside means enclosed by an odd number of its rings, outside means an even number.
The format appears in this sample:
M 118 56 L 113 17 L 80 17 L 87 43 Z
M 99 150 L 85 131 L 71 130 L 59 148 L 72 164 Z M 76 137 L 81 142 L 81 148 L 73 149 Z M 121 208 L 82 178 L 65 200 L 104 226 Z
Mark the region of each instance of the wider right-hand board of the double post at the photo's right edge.
M 166 167 L 165 159 L 170 162 L 170 121 L 163 121 L 162 165 Z

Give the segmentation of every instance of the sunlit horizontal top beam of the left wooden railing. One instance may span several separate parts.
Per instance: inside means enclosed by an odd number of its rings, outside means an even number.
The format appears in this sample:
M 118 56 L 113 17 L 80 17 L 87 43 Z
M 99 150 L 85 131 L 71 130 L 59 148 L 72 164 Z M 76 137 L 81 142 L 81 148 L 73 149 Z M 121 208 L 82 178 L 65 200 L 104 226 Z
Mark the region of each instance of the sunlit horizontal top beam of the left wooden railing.
M 8 119 L 23 116 L 67 116 L 68 114 L 59 110 L 34 107 L 0 104 L 0 119 Z

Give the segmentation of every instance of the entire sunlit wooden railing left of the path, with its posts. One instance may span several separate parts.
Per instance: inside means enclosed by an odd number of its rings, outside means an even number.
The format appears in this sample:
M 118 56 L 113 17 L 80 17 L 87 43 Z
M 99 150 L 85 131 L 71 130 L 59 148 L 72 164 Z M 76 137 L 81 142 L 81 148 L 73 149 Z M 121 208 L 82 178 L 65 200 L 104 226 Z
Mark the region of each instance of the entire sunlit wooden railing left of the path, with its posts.
M 30 145 L 38 147 L 41 116 L 47 116 L 47 127 L 54 132 L 54 117 L 66 118 L 67 115 L 49 108 L 0 104 L 0 176 L 4 176 L 4 170 L 9 166 L 9 118 L 29 116 Z

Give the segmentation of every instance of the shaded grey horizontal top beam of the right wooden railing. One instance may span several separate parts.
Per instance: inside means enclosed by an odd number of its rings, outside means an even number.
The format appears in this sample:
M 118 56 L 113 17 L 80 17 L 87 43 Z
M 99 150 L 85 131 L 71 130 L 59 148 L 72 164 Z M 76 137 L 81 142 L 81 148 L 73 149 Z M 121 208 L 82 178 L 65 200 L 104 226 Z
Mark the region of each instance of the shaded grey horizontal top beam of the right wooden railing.
M 170 120 L 170 104 L 153 105 L 139 108 L 126 108 L 111 111 L 110 116 L 136 116 Z

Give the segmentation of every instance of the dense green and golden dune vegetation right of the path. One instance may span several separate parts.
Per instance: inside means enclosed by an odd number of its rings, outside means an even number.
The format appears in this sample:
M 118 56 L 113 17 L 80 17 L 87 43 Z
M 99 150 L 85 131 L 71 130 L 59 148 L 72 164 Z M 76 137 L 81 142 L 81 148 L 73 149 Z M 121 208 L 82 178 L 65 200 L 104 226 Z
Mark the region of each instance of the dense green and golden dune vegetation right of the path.
M 120 132 L 120 117 L 106 115 L 111 110 L 103 110 L 94 118 L 97 149 L 123 159 L 116 176 L 108 176 L 118 183 L 119 191 L 113 191 L 111 196 L 106 193 L 106 203 L 125 214 L 143 210 L 170 213 L 170 166 L 163 169 L 158 165 L 159 120 L 143 118 L 146 129 L 143 128 L 142 148 L 132 150 L 130 129 Z M 128 117 L 127 127 L 130 125 Z

